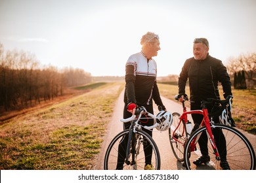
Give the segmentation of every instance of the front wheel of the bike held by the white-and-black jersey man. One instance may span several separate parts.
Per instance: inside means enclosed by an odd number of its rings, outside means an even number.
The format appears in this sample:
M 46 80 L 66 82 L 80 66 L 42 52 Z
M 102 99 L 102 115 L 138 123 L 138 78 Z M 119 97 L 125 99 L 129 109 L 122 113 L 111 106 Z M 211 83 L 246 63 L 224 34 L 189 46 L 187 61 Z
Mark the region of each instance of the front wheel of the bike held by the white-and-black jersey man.
M 121 131 L 114 137 L 106 150 L 104 158 L 105 170 L 144 170 L 145 163 L 149 158 L 151 158 L 151 164 L 154 169 L 160 169 L 160 153 L 156 142 L 148 133 L 140 129 L 137 129 L 133 135 L 135 136 L 132 139 L 135 140 L 132 140 L 129 144 L 128 159 L 125 156 L 129 129 Z

